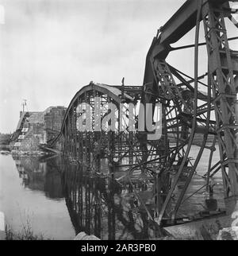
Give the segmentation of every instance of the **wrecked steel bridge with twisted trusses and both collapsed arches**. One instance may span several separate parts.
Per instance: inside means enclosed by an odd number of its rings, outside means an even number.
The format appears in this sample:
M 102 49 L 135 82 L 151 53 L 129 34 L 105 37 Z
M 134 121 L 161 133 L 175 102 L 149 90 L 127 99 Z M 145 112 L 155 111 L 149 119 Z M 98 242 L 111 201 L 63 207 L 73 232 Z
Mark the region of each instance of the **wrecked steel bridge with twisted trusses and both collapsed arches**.
M 221 170 L 225 198 L 231 200 L 238 196 L 237 173 L 237 119 L 236 92 L 238 60 L 237 52 L 228 46 L 225 17 L 230 17 L 228 1 L 188 0 L 171 17 L 153 39 L 146 58 L 143 87 L 108 86 L 90 83 L 83 87 L 71 100 L 63 120 L 61 132 L 49 146 L 62 140 L 63 152 L 79 161 L 80 165 L 93 173 L 109 175 L 123 171 L 138 200 L 145 209 L 148 218 L 159 225 L 176 223 L 183 214 L 183 204 L 191 200 L 203 187 L 209 190 L 209 181 Z M 205 29 L 205 45 L 208 55 L 208 72 L 199 76 L 198 47 L 199 31 Z M 167 56 L 175 48 L 171 44 L 179 41 L 186 33 L 195 28 L 194 77 L 186 75 L 167 63 Z M 207 83 L 201 80 L 207 78 Z M 205 91 L 198 90 L 198 83 Z M 95 97 L 100 103 L 95 106 Z M 97 120 L 109 114 L 109 103 L 117 107 L 123 103 L 162 104 L 162 137 L 150 141 L 148 132 L 95 131 Z M 80 131 L 78 119 L 82 115 L 79 105 L 88 104 L 92 115 L 92 130 Z M 104 107 L 102 107 L 104 106 Z M 120 108 L 117 108 L 117 110 Z M 98 110 L 100 110 L 98 112 Z M 86 111 L 86 107 L 83 107 Z M 147 114 L 147 108 L 139 114 Z M 95 114 L 96 113 L 96 114 Z M 97 114 L 99 113 L 99 114 Z M 117 111 L 117 127 L 120 126 L 120 111 Z M 84 114 L 85 115 L 85 114 Z M 212 115 L 216 116 L 213 120 Z M 135 120 L 138 116 L 135 115 Z M 86 122 L 86 120 L 85 120 Z M 125 115 L 125 124 L 129 124 L 129 115 Z M 196 136 L 201 134 L 200 142 Z M 208 138 L 213 138 L 212 145 Z M 213 163 L 216 142 L 220 150 L 220 161 Z M 191 148 L 197 145 L 195 159 L 191 159 Z M 209 149 L 208 169 L 205 170 L 205 185 L 196 192 L 188 188 L 197 167 L 201 163 L 202 153 Z M 193 155 L 194 157 L 194 155 Z M 124 179 L 125 178 L 125 179 Z M 143 182 L 152 191 L 152 208 L 140 194 L 138 182 Z M 181 185 L 182 184 L 182 185 Z

